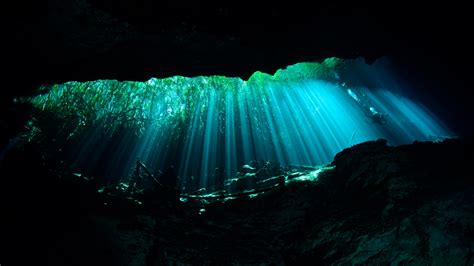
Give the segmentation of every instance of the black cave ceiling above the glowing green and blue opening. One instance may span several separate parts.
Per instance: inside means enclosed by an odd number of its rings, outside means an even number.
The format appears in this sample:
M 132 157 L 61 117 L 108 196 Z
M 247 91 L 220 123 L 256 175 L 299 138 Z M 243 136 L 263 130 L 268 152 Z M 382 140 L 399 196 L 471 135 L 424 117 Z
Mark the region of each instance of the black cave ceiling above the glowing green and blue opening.
M 430 81 L 436 97 L 449 86 L 453 102 L 472 98 L 470 14 L 462 6 L 45 0 L 18 1 L 5 13 L 5 77 L 14 89 L 2 99 L 71 80 L 246 79 L 327 57 L 383 56 L 403 66 L 404 78 Z

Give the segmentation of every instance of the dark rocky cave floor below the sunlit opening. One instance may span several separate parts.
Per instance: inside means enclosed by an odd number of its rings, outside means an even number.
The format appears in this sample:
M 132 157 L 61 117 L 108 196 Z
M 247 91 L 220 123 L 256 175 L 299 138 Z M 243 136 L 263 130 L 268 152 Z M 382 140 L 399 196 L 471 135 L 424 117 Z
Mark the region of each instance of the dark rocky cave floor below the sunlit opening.
M 31 168 L 41 169 L 36 164 Z M 35 186 L 8 179 L 8 248 L 0 258 L 35 265 L 474 263 L 471 142 L 366 142 L 340 152 L 332 165 L 316 181 L 209 204 L 140 205 L 104 197 L 88 189 L 91 181 L 72 177 Z M 16 173 L 24 177 L 31 168 Z

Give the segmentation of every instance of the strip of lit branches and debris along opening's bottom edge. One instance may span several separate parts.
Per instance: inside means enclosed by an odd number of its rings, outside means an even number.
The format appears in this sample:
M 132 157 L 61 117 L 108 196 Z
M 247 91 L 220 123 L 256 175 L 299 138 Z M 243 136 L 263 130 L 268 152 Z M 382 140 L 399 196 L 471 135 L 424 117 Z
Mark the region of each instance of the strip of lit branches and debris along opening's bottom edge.
M 294 182 L 314 182 L 321 172 L 333 168 L 333 166 L 305 165 L 281 167 L 279 163 L 273 161 L 250 161 L 241 167 L 236 177 L 227 180 L 224 189 L 210 191 L 203 187 L 192 193 L 180 193 L 159 181 L 164 173 L 155 177 L 141 161 L 137 160 L 131 176 L 102 187 L 97 193 L 125 198 L 138 205 L 146 203 L 147 199 L 156 198 L 163 203 L 175 200 L 189 203 L 192 200 L 204 206 L 213 202 L 259 197 Z M 152 180 L 154 186 L 147 184 L 146 180 Z

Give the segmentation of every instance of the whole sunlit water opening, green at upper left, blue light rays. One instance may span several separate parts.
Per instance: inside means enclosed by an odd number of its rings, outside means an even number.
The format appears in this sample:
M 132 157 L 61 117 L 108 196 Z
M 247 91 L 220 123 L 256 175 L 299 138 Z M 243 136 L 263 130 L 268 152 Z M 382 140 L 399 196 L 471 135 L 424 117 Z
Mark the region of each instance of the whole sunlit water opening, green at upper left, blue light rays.
M 251 160 L 318 165 L 367 140 L 398 145 L 452 135 L 405 88 L 387 82 L 389 73 L 377 69 L 384 75 L 365 86 L 345 80 L 350 71 L 328 59 L 274 76 L 256 72 L 248 81 L 69 82 L 44 87 L 31 101 L 62 121 L 55 130 L 65 160 L 110 180 L 128 175 L 139 159 L 155 172 L 173 165 L 183 183 L 211 187 Z

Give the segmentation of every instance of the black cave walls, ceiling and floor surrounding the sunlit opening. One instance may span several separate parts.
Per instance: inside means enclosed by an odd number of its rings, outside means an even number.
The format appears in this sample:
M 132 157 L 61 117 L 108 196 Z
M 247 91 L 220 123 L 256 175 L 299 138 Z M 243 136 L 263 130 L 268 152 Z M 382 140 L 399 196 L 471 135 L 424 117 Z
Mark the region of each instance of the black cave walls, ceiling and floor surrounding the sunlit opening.
M 3 12 L 0 233 L 7 248 L 0 264 L 474 263 L 469 8 L 48 0 L 17 1 Z M 256 71 L 273 74 L 330 57 L 369 65 L 389 58 L 391 71 L 414 88 L 407 94 L 423 98 L 458 138 L 401 146 L 369 141 L 341 150 L 321 169 L 254 162 L 239 173 L 265 172 L 259 182 L 275 189 L 233 200 L 180 200 L 166 185 L 167 177 L 174 182 L 172 171 L 160 176 L 165 186 L 104 190 L 100 177 L 72 173 L 48 157 L 47 142 L 12 141 L 33 112 L 14 99 L 36 95 L 41 85 L 175 75 L 246 80 Z M 155 178 L 140 161 L 136 169 Z M 316 172 L 317 182 L 308 180 Z

